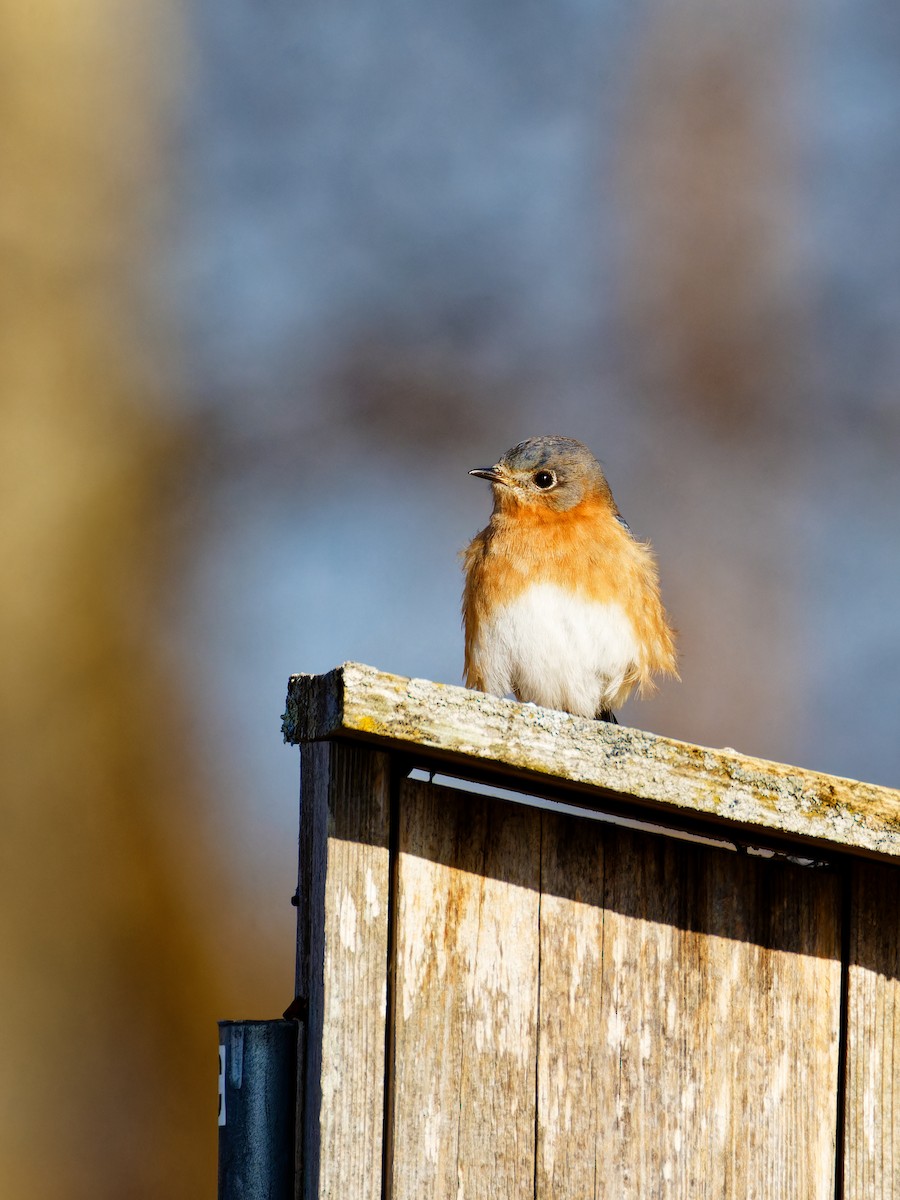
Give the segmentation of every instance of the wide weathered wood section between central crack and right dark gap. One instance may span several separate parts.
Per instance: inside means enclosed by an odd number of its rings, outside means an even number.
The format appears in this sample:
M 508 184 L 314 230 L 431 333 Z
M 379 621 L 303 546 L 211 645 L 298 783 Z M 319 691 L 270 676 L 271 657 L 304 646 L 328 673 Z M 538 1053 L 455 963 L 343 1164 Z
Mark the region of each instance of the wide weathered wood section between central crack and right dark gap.
M 836 878 L 545 815 L 542 888 L 536 1195 L 830 1200 Z

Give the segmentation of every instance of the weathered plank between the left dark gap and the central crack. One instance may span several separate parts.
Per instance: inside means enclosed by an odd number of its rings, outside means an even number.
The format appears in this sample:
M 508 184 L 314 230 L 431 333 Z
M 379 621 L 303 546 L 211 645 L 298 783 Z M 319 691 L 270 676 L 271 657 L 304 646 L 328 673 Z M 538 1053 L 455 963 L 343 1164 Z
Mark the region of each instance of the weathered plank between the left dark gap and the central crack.
M 407 781 L 392 1200 L 532 1200 L 540 814 Z

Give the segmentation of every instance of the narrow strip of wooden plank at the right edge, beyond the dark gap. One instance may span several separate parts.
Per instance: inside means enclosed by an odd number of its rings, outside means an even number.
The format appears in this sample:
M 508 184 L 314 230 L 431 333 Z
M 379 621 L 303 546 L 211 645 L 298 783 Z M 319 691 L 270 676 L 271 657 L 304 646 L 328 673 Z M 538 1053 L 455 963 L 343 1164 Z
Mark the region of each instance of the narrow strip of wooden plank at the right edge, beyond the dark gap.
M 900 1196 L 900 869 L 852 866 L 844 1200 Z

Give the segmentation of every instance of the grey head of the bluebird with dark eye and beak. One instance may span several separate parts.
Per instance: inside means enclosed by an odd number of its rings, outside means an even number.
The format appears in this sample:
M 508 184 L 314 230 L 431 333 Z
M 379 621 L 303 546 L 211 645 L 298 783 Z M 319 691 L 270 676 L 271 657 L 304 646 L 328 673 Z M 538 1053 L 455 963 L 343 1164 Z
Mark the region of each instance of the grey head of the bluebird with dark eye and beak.
M 469 474 L 491 481 L 498 509 L 512 503 L 565 512 L 592 494 L 616 508 L 600 463 L 574 438 L 528 438 L 496 466 L 475 467 Z

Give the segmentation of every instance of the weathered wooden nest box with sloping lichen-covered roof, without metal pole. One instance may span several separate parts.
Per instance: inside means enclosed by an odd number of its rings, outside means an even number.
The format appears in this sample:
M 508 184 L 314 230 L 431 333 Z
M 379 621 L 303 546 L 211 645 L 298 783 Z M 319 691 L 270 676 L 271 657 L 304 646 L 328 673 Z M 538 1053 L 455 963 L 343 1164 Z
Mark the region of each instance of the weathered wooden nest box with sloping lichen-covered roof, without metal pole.
M 900 792 L 356 664 L 284 728 L 302 1200 L 900 1198 Z

